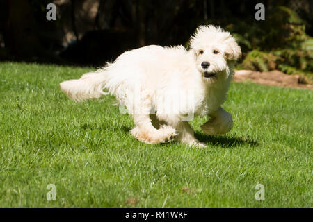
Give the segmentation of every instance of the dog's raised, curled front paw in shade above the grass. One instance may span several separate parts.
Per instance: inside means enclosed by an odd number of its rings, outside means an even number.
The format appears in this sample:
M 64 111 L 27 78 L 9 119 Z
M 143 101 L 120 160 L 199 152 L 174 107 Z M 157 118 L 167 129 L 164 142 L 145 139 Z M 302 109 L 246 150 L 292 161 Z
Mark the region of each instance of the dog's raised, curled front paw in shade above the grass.
M 209 135 L 227 133 L 232 129 L 232 115 L 223 108 L 218 108 L 216 112 L 209 114 L 209 121 L 201 126 L 204 133 Z

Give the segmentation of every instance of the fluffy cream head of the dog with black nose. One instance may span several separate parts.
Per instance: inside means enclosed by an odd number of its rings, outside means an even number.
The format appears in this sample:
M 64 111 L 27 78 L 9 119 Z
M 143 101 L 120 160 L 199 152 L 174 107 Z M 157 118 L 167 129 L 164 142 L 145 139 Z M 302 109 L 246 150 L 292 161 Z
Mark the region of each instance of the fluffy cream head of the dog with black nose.
M 200 26 L 191 37 L 191 51 L 204 80 L 228 78 L 230 62 L 241 56 L 241 48 L 230 33 L 215 26 Z

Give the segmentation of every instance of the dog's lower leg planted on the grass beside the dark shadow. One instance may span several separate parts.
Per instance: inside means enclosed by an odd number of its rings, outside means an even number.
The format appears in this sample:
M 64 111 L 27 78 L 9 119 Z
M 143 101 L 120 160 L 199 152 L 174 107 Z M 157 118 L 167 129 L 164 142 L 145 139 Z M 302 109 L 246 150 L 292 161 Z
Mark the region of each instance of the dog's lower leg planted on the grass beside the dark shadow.
M 188 122 L 181 121 L 177 123 L 176 130 L 178 132 L 177 141 L 189 146 L 204 148 L 207 144 L 199 142 L 198 139 L 195 139 L 193 128 L 189 125 Z

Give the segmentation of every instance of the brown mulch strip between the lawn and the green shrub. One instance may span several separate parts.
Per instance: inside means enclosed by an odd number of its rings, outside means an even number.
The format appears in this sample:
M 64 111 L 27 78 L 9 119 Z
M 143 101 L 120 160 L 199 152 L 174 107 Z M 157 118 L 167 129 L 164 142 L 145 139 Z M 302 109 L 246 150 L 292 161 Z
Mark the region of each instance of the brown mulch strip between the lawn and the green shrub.
M 259 72 L 243 69 L 235 71 L 235 82 L 244 82 L 246 80 L 251 80 L 254 83 L 266 85 L 313 89 L 312 84 L 303 84 L 303 77 L 299 75 L 289 76 L 278 70 Z

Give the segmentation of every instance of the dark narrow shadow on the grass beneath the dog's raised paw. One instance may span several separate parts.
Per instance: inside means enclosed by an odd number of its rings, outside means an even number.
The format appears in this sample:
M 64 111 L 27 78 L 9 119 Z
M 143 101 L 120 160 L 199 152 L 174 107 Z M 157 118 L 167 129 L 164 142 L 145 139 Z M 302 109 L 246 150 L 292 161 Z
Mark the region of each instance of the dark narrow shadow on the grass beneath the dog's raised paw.
M 233 137 L 233 136 L 211 136 L 205 135 L 203 133 L 195 133 L 195 137 L 208 145 L 222 146 L 224 148 L 234 148 L 238 146 L 248 145 L 248 146 L 259 146 L 259 143 L 255 139 L 250 139 L 248 137 Z

